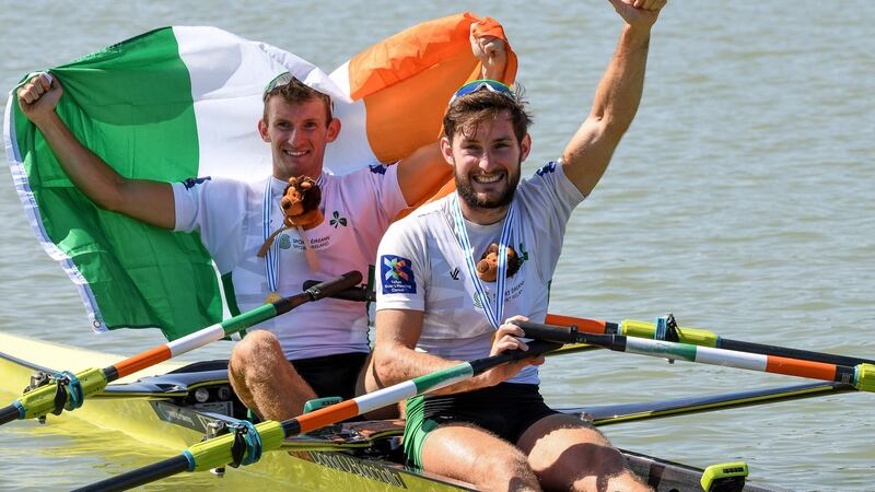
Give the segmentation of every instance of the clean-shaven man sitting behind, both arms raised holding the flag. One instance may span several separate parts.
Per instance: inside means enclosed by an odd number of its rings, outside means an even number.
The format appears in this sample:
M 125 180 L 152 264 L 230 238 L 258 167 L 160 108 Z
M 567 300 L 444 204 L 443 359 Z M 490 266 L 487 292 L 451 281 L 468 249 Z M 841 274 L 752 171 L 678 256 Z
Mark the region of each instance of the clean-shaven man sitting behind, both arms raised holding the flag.
M 483 74 L 503 75 L 503 40 L 483 36 L 472 38 L 471 46 Z M 428 178 L 434 175 L 429 167 L 442 166 L 436 143 L 397 165 L 345 176 L 324 173 L 325 149 L 338 137 L 340 120 L 332 116 L 327 95 L 289 73 L 265 90 L 258 132 L 270 145 L 272 174 L 257 183 L 128 179 L 79 142 L 58 117 L 55 108 L 62 93 L 57 78 L 37 75 L 18 97 L 71 181 L 103 209 L 159 227 L 199 232 L 220 273 L 231 277 L 225 293 L 237 307 L 232 305 L 232 314 L 258 307 L 279 293 L 300 292 L 308 279 L 350 270 L 366 276 L 389 222 L 440 185 Z M 283 224 L 280 198 L 289 179 L 299 177 L 319 186 L 318 208 L 329 219 L 306 231 L 306 238 L 294 232 L 278 236 L 261 258 L 259 249 Z M 307 248 L 319 258 L 317 272 L 306 260 Z M 259 324 L 234 347 L 229 375 L 247 407 L 264 419 L 285 420 L 300 415 L 310 399 L 348 399 L 363 393 L 369 352 L 364 305 L 328 298 Z

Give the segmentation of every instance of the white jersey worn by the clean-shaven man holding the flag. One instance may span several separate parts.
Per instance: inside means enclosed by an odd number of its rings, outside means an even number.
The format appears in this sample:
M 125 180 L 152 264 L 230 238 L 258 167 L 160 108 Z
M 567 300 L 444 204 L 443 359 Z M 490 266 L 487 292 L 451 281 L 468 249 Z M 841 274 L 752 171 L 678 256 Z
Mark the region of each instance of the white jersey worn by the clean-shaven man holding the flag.
M 259 258 L 257 251 L 265 242 L 265 230 L 270 234 L 282 225 L 279 203 L 287 185 L 272 177 L 256 183 L 200 178 L 173 185 L 176 231 L 200 233 L 223 276 L 232 314 L 235 306 L 246 312 L 262 305 L 271 292 L 266 258 Z M 319 271 L 310 270 L 298 231 L 283 231 L 273 249 L 278 253 L 273 271 L 281 295 L 300 293 L 306 280 L 327 280 L 350 270 L 366 278 L 381 236 L 407 207 L 397 165 L 375 165 L 343 176 L 322 175 L 319 185 L 319 210 L 325 221 L 305 232 L 318 257 Z M 266 211 L 270 215 L 267 226 Z M 290 360 L 370 351 L 364 303 L 325 298 L 257 328 L 273 332 Z

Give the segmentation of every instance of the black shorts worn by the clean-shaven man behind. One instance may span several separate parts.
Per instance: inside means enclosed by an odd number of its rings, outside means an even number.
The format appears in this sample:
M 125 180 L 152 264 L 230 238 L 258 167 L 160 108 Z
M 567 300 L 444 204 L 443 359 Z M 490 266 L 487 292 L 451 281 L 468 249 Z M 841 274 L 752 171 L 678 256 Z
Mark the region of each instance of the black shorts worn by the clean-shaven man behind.
M 317 397 L 350 400 L 355 397 L 355 383 L 366 359 L 364 352 L 350 352 L 289 362 Z

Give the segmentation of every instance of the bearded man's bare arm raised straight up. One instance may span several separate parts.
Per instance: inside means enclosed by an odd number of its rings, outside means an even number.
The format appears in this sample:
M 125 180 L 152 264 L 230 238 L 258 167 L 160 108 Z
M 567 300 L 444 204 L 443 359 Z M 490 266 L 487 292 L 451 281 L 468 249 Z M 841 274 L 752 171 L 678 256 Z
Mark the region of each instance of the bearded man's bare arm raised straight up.
M 666 0 L 609 0 L 625 21 L 593 107 L 562 152 L 565 176 L 584 196 L 605 174 L 641 102 L 650 32 Z

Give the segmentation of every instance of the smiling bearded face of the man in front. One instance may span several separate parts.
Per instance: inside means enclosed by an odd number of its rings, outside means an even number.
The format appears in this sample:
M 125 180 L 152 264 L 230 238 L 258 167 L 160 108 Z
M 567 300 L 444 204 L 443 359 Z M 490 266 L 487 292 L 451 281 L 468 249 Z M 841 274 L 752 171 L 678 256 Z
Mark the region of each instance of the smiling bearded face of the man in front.
M 509 112 L 478 125 L 474 134 L 464 133 L 457 131 L 452 143 L 442 139 L 441 151 L 453 165 L 462 214 L 477 224 L 493 224 L 508 213 L 532 139 L 526 134 L 517 140 Z

